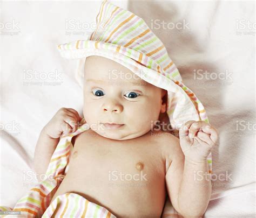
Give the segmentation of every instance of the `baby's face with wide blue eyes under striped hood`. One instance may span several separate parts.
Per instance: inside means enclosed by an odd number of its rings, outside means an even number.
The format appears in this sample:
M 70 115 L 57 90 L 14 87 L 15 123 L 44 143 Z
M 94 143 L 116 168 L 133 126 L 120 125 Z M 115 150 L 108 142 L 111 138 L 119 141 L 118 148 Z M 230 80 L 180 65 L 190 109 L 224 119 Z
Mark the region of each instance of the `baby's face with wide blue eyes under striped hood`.
M 165 112 L 165 94 L 166 90 L 140 79 L 116 61 L 86 58 L 83 114 L 101 136 L 125 140 L 149 132 L 160 112 Z

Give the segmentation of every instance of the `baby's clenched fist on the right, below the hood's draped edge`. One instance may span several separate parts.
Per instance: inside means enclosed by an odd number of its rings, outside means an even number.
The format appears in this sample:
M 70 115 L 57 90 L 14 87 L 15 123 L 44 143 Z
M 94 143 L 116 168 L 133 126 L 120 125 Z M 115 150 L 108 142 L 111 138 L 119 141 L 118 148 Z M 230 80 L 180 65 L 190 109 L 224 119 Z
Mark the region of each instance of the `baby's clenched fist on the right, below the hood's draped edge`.
M 213 126 L 204 121 L 188 121 L 181 126 L 179 137 L 185 158 L 201 162 L 207 159 L 217 142 L 218 133 Z

